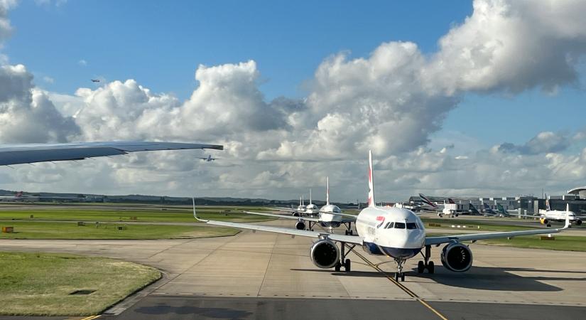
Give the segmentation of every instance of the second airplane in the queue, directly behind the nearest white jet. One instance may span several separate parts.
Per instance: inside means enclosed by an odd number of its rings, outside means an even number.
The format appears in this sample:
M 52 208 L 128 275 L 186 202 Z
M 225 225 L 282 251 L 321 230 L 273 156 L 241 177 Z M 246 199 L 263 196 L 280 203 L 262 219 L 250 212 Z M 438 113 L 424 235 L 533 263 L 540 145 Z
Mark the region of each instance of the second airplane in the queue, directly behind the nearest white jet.
M 244 213 L 249 213 L 252 215 L 264 215 L 267 217 L 273 218 L 284 218 L 284 219 L 293 219 L 297 220 L 295 223 L 295 229 L 297 230 L 305 230 L 305 223 L 308 224 L 307 230 L 313 231 L 313 226 L 317 223 L 318 225 L 322 226 L 323 228 L 328 228 L 330 233 L 334 232 L 334 228 L 339 228 L 340 225 L 345 225 L 346 235 L 353 235 L 354 231 L 352 230 L 352 223 L 356 221 L 356 217 L 348 217 L 338 215 L 337 213 L 342 213 L 342 210 L 333 204 L 330 203 L 330 177 L 326 177 L 326 192 L 325 192 L 325 206 L 322 206 L 320 210 L 318 210 L 318 217 L 303 217 L 299 215 L 278 215 L 273 213 L 258 213 L 253 211 L 244 211 Z

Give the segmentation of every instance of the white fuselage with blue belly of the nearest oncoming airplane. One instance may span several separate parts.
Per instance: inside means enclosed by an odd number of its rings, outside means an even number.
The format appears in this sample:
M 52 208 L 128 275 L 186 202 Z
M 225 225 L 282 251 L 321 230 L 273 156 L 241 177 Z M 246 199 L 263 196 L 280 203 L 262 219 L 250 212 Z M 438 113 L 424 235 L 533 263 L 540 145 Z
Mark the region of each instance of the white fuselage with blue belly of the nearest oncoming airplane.
M 404 208 L 365 208 L 358 215 L 356 230 L 364 238 L 364 249 L 373 255 L 408 259 L 425 245 L 421 219 Z

